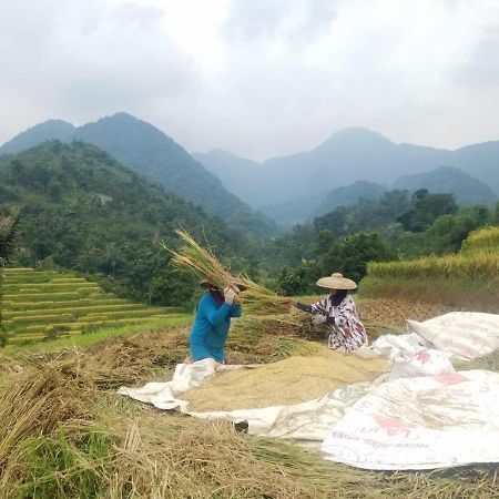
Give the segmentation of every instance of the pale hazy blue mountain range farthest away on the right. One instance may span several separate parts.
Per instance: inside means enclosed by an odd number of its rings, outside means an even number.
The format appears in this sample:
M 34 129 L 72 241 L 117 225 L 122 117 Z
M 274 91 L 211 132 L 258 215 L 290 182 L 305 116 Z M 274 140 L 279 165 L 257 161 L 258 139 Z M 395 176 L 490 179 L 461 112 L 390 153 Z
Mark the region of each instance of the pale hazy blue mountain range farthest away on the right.
M 499 141 L 448 151 L 396 144 L 379 133 L 354 128 L 336 132 L 315 149 L 274 157 L 259 165 L 244 163 L 245 160 L 226 152 L 196 157 L 227 189 L 237 189 L 237 195 L 253 206 L 299 203 L 357 181 L 391 184 L 403 175 L 442 165 L 469 173 L 499 195 Z M 242 167 L 243 164 L 247 167 Z

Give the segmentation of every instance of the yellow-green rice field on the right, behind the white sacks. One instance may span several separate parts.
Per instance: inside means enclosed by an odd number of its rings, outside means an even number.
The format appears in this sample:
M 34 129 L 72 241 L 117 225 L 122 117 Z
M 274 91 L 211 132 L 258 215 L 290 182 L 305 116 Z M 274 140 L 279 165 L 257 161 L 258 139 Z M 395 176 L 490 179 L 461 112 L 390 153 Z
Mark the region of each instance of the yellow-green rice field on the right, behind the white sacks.
M 476 312 L 499 312 L 499 226 L 479 230 L 457 254 L 370 263 L 363 296 L 436 302 Z

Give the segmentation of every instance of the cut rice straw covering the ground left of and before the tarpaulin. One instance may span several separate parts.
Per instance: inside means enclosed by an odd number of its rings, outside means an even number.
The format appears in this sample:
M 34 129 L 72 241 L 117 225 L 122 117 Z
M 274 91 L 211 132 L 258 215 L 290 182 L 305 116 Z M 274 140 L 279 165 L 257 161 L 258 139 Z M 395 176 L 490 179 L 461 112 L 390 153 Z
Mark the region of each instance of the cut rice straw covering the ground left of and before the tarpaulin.
M 174 327 L 85 348 L 2 355 L 0 497 L 497 497 L 493 466 L 431 472 L 359 470 L 326 462 L 317 452 L 291 444 L 240 434 L 227 422 L 159 411 L 115 394 L 121 385 L 170 379 L 174 365 L 189 352 L 187 335 L 187 327 Z M 247 364 L 265 360 L 268 366 L 258 369 L 279 370 L 278 366 L 296 363 L 295 368 L 308 374 L 309 359 L 323 357 L 317 344 L 307 349 L 305 340 L 286 338 L 274 363 L 273 342 L 275 337 L 268 339 L 267 354 L 261 347 L 256 354 L 230 349 L 228 356 Z M 307 357 L 293 360 L 291 356 L 301 352 Z M 330 365 L 328 355 L 324 358 Z

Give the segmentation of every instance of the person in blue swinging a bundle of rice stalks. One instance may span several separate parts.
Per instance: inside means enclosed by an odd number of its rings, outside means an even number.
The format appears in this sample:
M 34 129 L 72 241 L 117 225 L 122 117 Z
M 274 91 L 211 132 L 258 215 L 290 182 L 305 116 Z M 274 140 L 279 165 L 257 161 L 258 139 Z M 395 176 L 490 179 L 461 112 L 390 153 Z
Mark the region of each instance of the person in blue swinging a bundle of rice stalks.
M 200 283 L 206 293 L 197 305 L 196 318 L 191 330 L 189 343 L 191 357 L 186 361 L 213 358 L 225 363 L 224 346 L 227 340 L 232 317 L 241 317 L 243 308 L 238 296 L 243 283 L 234 277 L 234 285 L 221 292 L 207 281 Z

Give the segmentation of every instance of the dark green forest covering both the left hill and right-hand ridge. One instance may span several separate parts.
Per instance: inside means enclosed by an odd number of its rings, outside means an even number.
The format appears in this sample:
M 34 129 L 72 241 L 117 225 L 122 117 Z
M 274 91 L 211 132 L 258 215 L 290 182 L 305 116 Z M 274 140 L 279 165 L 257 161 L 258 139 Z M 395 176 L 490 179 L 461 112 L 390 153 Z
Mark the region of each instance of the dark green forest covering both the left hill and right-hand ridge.
M 161 248 L 183 226 L 235 273 L 282 293 L 314 293 L 343 272 L 359 281 L 369 261 L 456 252 L 473 230 L 499 223 L 499 204 L 459 207 L 451 194 L 387 191 L 336 206 L 265 240 L 227 226 L 109 153 L 83 142 L 45 142 L 0 157 L 0 215 L 21 208 L 14 264 L 71 268 L 146 303 L 187 305 L 195 279 Z

